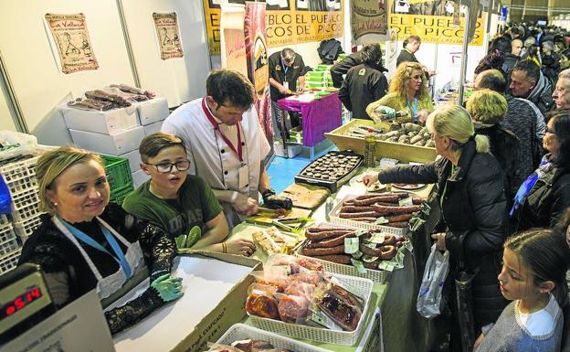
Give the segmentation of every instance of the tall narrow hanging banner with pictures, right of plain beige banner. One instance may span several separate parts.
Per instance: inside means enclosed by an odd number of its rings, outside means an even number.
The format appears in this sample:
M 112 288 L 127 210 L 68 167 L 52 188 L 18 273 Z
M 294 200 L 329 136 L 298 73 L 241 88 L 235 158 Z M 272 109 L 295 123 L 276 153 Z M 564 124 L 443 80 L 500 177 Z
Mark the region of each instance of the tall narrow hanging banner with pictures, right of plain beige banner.
M 273 126 L 271 122 L 271 100 L 269 98 L 269 64 L 267 38 L 265 37 L 265 4 L 246 3 L 246 56 L 248 58 L 248 78 L 253 83 L 257 94 L 256 110 L 259 124 L 273 144 Z

